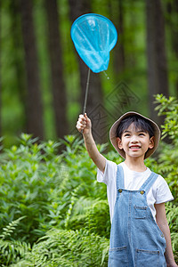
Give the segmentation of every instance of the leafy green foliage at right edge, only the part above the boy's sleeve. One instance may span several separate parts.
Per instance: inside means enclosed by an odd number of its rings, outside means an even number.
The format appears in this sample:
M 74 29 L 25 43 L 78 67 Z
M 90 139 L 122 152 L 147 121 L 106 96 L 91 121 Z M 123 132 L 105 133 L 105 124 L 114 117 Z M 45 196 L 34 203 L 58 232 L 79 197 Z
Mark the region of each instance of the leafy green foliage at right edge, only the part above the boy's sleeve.
M 158 115 L 165 116 L 165 123 L 162 125 L 163 137 L 170 138 L 171 143 L 162 143 L 161 153 L 158 158 L 158 170 L 166 178 L 175 203 L 178 204 L 178 101 L 174 97 L 168 99 L 158 94 Z

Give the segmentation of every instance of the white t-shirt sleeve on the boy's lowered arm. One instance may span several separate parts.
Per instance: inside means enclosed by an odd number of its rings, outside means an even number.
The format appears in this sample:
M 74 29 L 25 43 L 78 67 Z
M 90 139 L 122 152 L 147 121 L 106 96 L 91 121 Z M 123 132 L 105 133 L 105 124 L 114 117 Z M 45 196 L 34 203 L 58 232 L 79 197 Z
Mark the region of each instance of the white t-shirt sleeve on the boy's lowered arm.
M 164 203 L 173 200 L 174 197 L 171 190 L 168 187 L 166 180 L 159 175 L 158 176 L 158 187 L 157 187 L 157 200 L 156 204 Z

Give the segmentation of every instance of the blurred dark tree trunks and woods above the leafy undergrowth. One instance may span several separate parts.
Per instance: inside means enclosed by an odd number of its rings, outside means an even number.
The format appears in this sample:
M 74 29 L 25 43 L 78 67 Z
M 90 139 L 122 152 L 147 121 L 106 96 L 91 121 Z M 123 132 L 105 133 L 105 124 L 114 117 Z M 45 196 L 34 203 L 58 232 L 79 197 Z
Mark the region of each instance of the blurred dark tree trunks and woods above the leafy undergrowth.
M 127 110 L 163 118 L 154 95 L 178 96 L 177 0 L 0 0 L 0 134 L 40 140 L 77 134 L 88 68 L 70 37 L 78 16 L 94 12 L 117 28 L 106 73 L 91 74 L 87 114 L 96 142 Z

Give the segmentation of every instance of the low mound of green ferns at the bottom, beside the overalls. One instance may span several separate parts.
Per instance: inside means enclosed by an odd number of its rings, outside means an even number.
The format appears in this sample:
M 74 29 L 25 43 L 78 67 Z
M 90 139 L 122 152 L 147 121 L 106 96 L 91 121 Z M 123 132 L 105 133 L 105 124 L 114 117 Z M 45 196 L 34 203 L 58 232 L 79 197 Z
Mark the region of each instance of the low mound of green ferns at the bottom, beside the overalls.
M 109 240 L 90 233 L 84 229 L 79 231 L 48 231 L 39 239 L 30 253 L 23 260 L 12 266 L 107 266 L 105 248 Z M 20 265 L 24 264 L 24 265 Z

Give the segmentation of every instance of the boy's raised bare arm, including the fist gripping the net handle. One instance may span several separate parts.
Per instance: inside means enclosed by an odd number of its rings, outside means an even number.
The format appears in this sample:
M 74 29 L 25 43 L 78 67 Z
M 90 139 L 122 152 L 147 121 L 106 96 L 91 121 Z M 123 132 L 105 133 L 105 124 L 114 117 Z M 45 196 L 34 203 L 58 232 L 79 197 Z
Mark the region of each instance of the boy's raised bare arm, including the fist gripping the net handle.
M 104 158 L 96 147 L 92 135 L 92 123 L 89 117 L 85 115 L 79 115 L 77 120 L 77 130 L 82 132 L 85 140 L 85 148 L 93 163 L 104 173 L 106 166 L 106 158 Z

